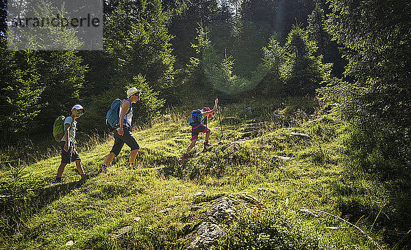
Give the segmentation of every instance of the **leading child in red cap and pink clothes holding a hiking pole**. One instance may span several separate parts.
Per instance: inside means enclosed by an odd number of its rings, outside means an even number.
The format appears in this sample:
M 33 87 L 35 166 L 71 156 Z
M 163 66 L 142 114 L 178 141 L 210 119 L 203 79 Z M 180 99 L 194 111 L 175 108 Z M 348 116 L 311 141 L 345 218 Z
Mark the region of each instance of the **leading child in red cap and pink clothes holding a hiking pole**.
M 206 140 L 204 141 L 204 150 L 212 145 L 208 143 L 210 138 L 211 130 L 207 128 L 207 118 L 211 118 L 211 114 L 217 110 L 217 103 L 219 103 L 219 98 L 214 101 L 214 108 L 210 110 L 209 107 L 203 107 L 203 109 L 197 109 L 191 111 L 190 126 L 191 130 L 191 144 L 188 146 L 186 152 L 183 154 L 182 159 L 185 161 L 190 156 L 190 150 L 195 146 L 197 139 L 199 138 L 199 133 L 206 133 Z

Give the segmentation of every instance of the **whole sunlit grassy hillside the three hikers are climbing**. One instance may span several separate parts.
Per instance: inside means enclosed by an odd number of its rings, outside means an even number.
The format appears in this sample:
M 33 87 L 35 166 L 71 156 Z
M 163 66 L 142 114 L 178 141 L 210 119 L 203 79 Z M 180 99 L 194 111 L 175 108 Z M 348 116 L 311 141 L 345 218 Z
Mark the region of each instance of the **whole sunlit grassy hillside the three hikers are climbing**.
M 229 195 L 258 204 L 233 199 L 238 216 L 220 225 L 213 249 L 409 249 L 410 171 L 385 157 L 390 144 L 370 145 L 329 110 L 309 97 L 225 105 L 208 124 L 214 145 L 202 152 L 200 135 L 181 161 L 190 107 L 168 109 L 134 129 L 135 170 L 125 145 L 97 175 L 112 136 L 80 143 L 84 182 L 72 163 L 52 183 L 57 151 L 3 164 L 0 249 L 185 249 L 212 202 Z

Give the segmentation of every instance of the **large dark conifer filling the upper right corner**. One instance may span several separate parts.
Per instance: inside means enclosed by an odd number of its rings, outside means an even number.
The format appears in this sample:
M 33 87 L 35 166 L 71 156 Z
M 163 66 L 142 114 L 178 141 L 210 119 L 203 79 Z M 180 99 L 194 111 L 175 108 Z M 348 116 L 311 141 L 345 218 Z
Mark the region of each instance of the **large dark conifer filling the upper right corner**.
M 381 126 L 411 124 L 410 1 L 330 1 L 327 31 L 345 46 L 345 79 L 329 79 L 323 94 L 343 113 Z

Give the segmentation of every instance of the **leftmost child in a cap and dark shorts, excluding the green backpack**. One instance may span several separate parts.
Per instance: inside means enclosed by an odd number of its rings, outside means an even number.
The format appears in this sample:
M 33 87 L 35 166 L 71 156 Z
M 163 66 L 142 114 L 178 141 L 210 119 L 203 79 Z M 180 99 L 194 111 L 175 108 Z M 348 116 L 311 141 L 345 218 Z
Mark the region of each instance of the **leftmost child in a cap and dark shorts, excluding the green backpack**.
M 60 140 L 60 147 L 62 148 L 62 163 L 60 164 L 60 167 L 58 167 L 57 176 L 55 176 L 54 181 L 55 183 L 62 181 L 64 167 L 73 161 L 75 161 L 77 171 L 79 171 L 79 174 L 82 176 L 82 180 L 87 178 L 86 173 L 83 171 L 82 159 L 77 154 L 77 150 L 75 149 L 75 130 L 77 129 L 76 119 L 83 114 L 84 109 L 82 105 L 74 105 L 71 109 L 71 116 L 64 119 L 64 137 Z

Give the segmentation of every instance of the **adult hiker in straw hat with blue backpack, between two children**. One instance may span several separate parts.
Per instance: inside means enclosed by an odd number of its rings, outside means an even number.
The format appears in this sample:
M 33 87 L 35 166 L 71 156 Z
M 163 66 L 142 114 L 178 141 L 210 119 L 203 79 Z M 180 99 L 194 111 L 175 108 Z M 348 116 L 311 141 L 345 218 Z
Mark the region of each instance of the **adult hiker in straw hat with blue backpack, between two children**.
M 138 100 L 140 100 L 140 91 L 132 87 L 127 90 L 127 99 L 116 99 L 112 102 L 112 107 L 108 111 L 106 118 L 108 124 L 116 128 L 114 130 L 114 145 L 110 154 L 105 157 L 105 161 L 101 166 L 101 173 L 107 172 L 108 165 L 110 165 L 115 156 L 119 155 L 124 143 L 131 150 L 129 154 L 129 169 L 134 169 L 134 161 L 136 161 L 140 145 L 138 145 L 136 138 L 132 135 L 132 103 L 138 102 Z

